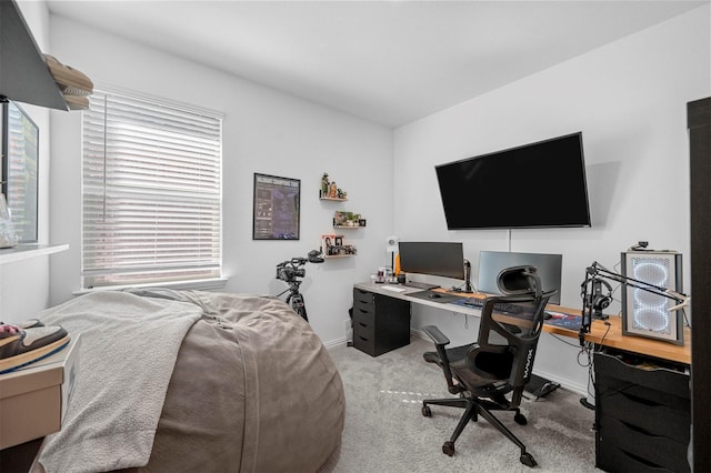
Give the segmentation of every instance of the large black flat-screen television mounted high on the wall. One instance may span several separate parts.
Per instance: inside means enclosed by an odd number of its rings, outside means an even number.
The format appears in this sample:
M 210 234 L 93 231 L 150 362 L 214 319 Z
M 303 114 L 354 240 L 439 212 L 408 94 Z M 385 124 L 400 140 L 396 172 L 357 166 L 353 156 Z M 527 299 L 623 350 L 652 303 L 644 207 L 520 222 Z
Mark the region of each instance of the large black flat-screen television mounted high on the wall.
M 449 230 L 590 227 L 582 132 L 435 171 Z

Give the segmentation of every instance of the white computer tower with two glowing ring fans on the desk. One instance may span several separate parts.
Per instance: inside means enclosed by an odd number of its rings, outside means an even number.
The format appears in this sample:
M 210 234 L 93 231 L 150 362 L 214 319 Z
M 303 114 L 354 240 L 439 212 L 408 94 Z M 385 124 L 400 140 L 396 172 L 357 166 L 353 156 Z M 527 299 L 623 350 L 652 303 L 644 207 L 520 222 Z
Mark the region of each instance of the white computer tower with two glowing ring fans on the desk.
M 622 275 L 657 288 L 682 292 L 681 254 L 675 251 L 628 251 L 621 258 Z M 622 291 L 622 334 L 684 344 L 683 313 L 669 311 L 679 302 L 634 286 Z M 658 291 L 662 292 L 662 291 Z

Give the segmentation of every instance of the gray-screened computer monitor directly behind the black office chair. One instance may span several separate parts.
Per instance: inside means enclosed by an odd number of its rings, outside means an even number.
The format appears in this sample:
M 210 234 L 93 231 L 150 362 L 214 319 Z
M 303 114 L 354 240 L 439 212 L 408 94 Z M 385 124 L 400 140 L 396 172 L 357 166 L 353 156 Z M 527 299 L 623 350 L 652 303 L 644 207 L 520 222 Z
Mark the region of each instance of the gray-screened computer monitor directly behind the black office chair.
M 488 294 L 500 294 L 498 278 L 501 270 L 521 264 L 535 266 L 543 291 L 558 289 L 550 302 L 560 304 L 562 254 L 481 251 L 479 253 L 479 285 L 477 289 Z

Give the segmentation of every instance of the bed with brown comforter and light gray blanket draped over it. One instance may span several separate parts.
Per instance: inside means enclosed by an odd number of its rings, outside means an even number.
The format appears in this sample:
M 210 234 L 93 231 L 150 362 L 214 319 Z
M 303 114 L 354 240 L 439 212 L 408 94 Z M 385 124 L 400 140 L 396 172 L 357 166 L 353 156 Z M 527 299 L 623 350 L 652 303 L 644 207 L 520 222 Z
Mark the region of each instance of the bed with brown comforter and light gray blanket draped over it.
M 316 472 L 337 454 L 338 370 L 278 299 L 101 292 L 40 320 L 81 344 L 62 430 L 34 471 Z

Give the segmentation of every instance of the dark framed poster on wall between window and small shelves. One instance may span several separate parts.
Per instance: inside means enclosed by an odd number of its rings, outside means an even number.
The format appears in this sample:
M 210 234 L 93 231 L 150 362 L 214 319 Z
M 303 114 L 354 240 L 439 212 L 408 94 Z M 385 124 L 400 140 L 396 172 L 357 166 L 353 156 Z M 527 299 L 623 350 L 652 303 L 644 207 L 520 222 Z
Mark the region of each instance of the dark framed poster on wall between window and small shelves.
M 299 240 L 301 180 L 254 173 L 252 240 Z

